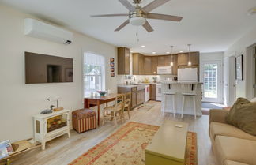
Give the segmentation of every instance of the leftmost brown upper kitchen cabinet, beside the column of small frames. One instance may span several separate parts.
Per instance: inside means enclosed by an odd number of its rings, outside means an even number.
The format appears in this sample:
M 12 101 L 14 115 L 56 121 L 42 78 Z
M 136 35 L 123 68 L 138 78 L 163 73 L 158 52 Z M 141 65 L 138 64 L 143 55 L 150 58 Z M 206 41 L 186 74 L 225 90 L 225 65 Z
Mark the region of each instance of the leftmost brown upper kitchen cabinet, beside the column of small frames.
M 118 47 L 118 74 L 130 74 L 130 50 Z

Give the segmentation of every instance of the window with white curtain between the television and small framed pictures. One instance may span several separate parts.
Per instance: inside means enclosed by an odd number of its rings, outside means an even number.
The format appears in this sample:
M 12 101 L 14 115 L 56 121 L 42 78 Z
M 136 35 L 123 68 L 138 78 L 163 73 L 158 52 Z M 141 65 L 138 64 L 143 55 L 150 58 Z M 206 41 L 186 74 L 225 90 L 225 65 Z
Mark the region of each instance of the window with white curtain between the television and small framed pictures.
M 105 90 L 105 58 L 99 54 L 84 54 L 84 95 Z

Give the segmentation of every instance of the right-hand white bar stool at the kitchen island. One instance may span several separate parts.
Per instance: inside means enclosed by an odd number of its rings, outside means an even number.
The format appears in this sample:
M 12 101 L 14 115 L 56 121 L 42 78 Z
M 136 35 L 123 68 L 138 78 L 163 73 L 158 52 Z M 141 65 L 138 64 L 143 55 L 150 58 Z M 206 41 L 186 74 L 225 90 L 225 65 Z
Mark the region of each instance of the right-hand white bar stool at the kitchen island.
M 182 92 L 183 95 L 183 107 L 182 107 L 182 118 L 183 118 L 183 111 L 185 107 L 185 99 L 186 98 L 192 98 L 193 99 L 193 107 L 194 107 L 194 119 L 197 118 L 197 108 L 196 108 L 196 101 L 195 96 L 197 96 L 197 88 L 198 84 L 183 84 L 183 90 L 185 92 Z

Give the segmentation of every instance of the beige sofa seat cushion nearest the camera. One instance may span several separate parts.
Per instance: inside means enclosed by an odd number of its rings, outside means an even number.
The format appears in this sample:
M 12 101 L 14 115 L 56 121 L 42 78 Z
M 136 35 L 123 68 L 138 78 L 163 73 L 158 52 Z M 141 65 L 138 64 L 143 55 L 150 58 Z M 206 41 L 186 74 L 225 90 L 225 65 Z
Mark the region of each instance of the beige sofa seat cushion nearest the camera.
M 256 141 L 224 136 L 217 136 L 215 141 L 216 157 L 221 164 L 226 160 L 232 160 L 256 165 Z

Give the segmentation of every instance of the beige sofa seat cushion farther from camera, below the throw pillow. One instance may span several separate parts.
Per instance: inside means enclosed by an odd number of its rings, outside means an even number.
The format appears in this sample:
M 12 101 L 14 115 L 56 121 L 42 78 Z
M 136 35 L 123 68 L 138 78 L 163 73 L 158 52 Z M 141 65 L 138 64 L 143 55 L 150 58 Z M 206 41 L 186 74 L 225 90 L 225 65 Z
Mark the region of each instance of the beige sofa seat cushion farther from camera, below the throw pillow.
M 215 141 L 217 135 L 238 137 L 241 139 L 256 141 L 256 136 L 250 135 L 249 133 L 243 132 L 243 130 L 236 128 L 235 126 L 224 124 L 220 122 L 210 123 L 210 136 Z

